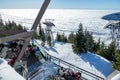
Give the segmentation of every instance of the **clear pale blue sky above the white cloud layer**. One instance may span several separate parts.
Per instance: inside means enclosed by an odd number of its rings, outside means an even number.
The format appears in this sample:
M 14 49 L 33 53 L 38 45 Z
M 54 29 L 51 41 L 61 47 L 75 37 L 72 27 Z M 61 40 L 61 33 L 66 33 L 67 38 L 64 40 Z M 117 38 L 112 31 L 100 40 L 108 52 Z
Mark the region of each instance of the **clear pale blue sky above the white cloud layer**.
M 0 0 L 0 9 L 40 8 L 44 0 Z M 120 0 L 51 0 L 49 8 L 120 9 Z

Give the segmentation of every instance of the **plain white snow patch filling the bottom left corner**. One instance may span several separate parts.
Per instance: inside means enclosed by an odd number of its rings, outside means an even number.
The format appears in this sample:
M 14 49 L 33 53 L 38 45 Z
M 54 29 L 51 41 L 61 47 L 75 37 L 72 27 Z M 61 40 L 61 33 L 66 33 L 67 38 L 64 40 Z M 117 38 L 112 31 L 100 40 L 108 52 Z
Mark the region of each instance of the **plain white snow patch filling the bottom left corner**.
M 25 80 L 14 68 L 7 64 L 7 61 L 0 58 L 0 80 Z

